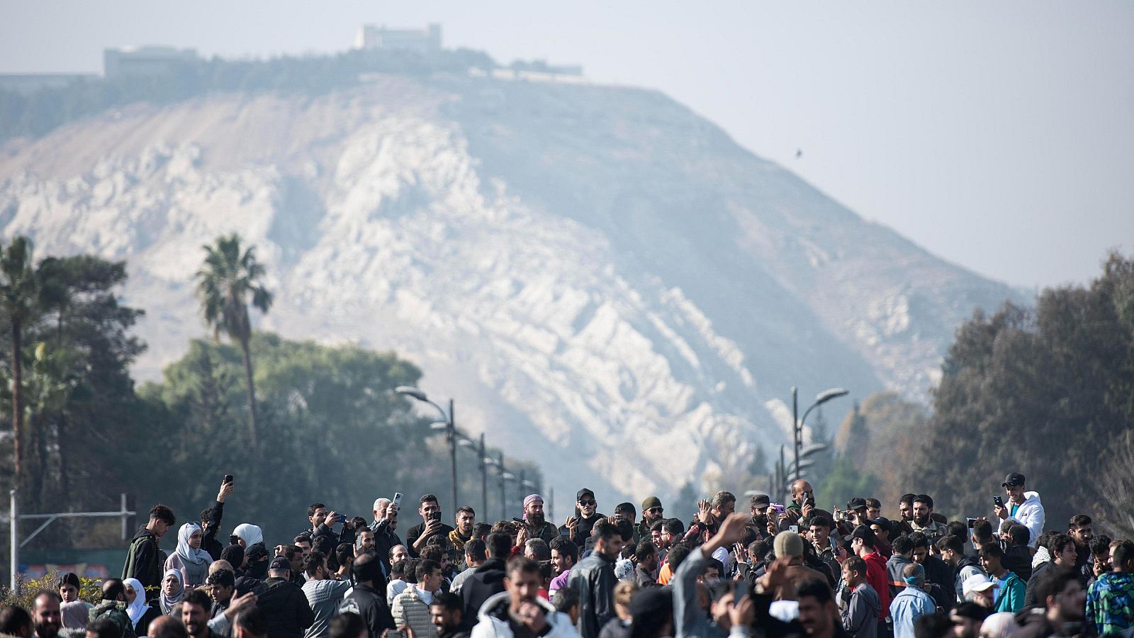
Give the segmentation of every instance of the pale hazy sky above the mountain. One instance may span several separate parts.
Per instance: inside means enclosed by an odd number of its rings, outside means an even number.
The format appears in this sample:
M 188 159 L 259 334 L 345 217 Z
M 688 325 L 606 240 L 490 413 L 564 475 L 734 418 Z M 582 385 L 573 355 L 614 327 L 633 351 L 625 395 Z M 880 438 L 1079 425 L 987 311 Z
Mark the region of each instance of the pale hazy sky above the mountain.
M 868 219 L 1024 286 L 1134 250 L 1134 2 L 7 2 L 0 72 L 271 56 L 363 23 L 657 87 Z M 803 157 L 795 158 L 796 149 Z

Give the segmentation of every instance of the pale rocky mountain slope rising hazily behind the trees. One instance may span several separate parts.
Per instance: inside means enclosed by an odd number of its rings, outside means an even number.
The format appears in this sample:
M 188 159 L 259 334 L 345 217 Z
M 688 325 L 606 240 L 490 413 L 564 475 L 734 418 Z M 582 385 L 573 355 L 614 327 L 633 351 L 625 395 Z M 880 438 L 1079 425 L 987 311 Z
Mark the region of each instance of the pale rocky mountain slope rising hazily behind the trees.
M 801 401 L 923 396 L 1022 295 L 870 224 L 648 90 L 376 75 L 137 104 L 0 156 L 0 226 L 128 260 L 155 378 L 203 334 L 201 245 L 259 246 L 293 338 L 393 349 L 458 426 L 544 457 L 561 518 L 773 452 Z M 374 451 L 379 454 L 379 451 Z

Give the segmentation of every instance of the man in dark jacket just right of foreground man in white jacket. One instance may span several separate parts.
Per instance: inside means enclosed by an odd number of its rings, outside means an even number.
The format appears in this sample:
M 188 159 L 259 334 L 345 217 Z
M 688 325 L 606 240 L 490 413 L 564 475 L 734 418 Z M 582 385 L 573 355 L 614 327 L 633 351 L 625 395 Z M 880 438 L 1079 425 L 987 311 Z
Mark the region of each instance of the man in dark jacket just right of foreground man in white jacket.
M 594 552 L 575 565 L 567 587 L 578 590 L 578 632 L 583 638 L 598 638 L 607 621 L 615 618 L 615 561 L 623 551 L 623 537 L 608 520 L 591 529 Z

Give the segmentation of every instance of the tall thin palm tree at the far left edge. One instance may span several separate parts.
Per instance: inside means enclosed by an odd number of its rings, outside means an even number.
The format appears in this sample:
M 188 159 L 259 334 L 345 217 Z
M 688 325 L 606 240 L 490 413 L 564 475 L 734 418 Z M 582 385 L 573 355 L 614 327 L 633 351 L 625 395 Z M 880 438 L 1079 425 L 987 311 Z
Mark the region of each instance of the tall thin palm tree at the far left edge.
M 32 268 L 32 241 L 15 237 L 0 250 L 0 307 L 8 316 L 11 334 L 11 434 L 15 487 L 20 487 L 23 469 L 20 439 L 24 434 L 23 337 L 39 299 L 39 277 Z

